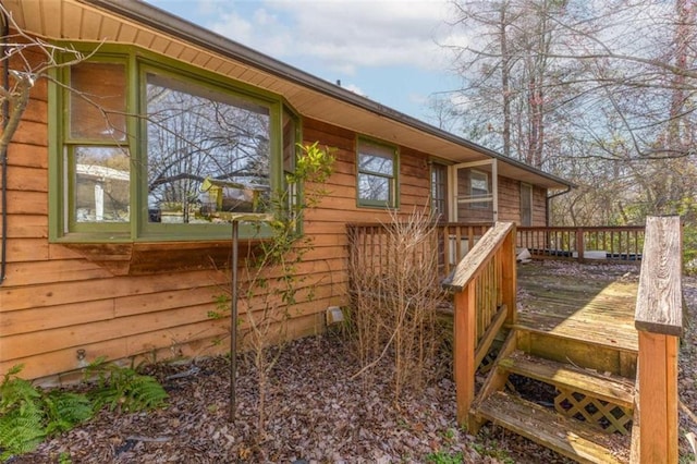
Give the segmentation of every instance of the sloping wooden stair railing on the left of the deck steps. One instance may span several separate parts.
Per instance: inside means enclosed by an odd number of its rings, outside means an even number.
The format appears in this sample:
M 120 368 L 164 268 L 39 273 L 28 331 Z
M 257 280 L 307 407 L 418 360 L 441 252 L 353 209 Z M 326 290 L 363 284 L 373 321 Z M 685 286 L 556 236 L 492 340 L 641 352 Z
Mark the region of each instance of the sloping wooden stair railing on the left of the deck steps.
M 453 364 L 457 422 L 475 398 L 475 373 L 504 322 L 515 323 L 515 224 L 497 222 L 443 284 L 454 293 Z

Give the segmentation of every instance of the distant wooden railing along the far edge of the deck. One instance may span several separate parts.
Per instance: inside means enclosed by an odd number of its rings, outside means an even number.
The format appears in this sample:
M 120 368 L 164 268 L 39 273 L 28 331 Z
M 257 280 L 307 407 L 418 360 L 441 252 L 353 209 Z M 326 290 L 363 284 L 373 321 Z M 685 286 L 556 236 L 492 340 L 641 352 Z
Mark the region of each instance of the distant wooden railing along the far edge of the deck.
M 519 227 L 517 246 L 536 259 L 638 262 L 644 246 L 643 225 Z

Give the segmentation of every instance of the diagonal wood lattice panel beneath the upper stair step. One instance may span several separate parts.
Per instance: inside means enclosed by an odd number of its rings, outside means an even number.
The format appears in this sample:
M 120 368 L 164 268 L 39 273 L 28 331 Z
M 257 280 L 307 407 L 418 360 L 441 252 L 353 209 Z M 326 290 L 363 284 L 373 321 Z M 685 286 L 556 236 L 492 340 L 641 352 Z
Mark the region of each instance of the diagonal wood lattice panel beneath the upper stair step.
M 557 390 L 559 394 L 554 398 L 554 408 L 560 414 L 598 426 L 608 434 L 631 434 L 632 410 L 577 391 L 562 388 Z

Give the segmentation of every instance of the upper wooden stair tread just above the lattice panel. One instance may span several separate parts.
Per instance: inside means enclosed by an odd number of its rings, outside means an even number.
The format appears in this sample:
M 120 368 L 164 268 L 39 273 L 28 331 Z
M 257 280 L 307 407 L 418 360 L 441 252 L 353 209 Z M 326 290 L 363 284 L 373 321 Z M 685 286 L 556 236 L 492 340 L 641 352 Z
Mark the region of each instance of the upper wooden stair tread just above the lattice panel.
M 515 351 L 501 359 L 499 368 L 553 386 L 566 387 L 628 410 L 634 408 L 634 382 L 625 377 L 534 357 L 522 351 Z

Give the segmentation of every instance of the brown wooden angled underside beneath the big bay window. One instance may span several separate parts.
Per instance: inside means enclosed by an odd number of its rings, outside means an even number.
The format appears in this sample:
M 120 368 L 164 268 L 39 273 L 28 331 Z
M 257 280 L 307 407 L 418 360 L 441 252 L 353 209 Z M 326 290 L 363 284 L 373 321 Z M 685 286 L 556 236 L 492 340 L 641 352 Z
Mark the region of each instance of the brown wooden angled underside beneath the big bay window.
M 72 237 L 71 237 L 72 239 Z M 240 256 L 260 239 L 240 239 Z M 230 267 L 232 240 L 178 242 L 59 242 L 114 276 L 223 269 Z

